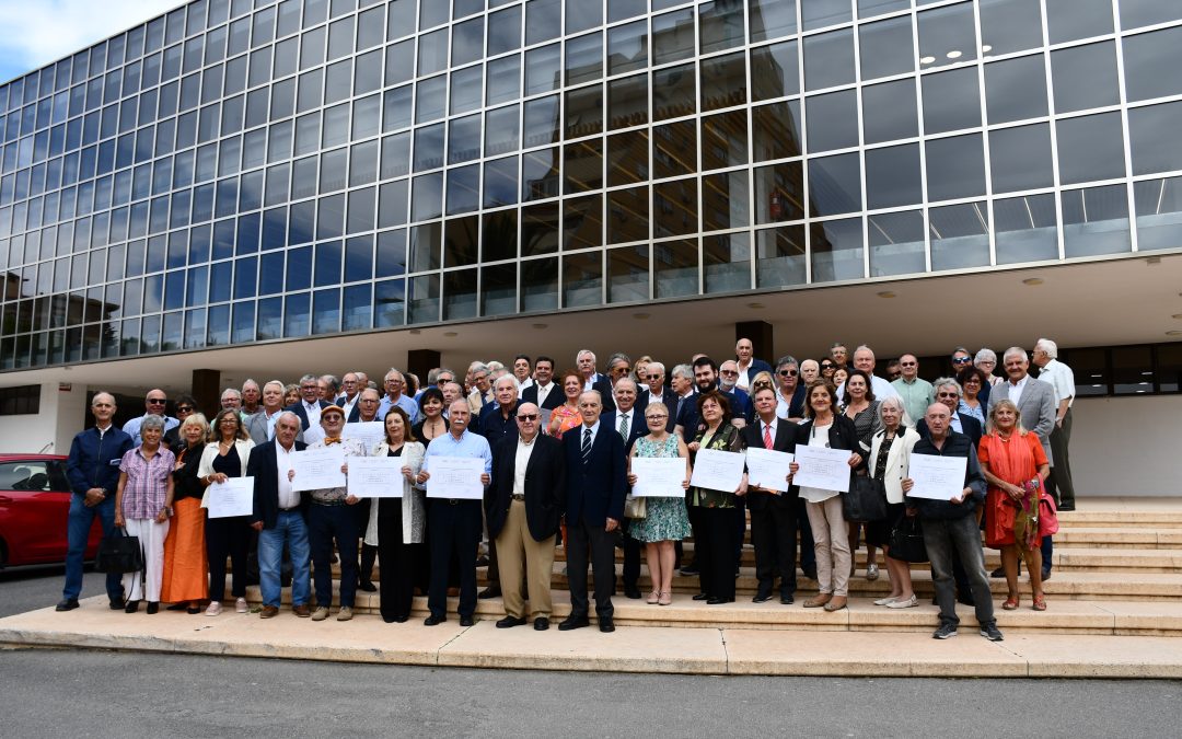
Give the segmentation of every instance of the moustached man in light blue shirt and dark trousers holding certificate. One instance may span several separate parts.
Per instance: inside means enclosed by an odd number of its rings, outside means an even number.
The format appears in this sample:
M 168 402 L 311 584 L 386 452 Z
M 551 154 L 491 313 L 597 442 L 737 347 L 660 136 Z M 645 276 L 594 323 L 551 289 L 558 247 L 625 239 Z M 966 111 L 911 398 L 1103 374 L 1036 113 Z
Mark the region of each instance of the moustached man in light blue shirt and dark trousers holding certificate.
M 427 456 L 417 480 L 427 486 L 427 539 L 430 545 L 431 583 L 427 591 L 427 607 L 431 614 L 423 625 L 447 621 L 447 573 L 452 556 L 460 566 L 460 625 L 475 623 L 476 612 L 476 546 L 483 523 L 481 501 L 483 486 L 489 482 L 493 453 L 483 436 L 468 430 L 472 409 L 468 401 L 457 400 L 448 408 L 452 426 L 447 434 L 436 436 L 427 447 Z M 460 461 L 463 460 L 463 461 Z M 480 460 L 479 478 L 469 475 L 467 460 Z

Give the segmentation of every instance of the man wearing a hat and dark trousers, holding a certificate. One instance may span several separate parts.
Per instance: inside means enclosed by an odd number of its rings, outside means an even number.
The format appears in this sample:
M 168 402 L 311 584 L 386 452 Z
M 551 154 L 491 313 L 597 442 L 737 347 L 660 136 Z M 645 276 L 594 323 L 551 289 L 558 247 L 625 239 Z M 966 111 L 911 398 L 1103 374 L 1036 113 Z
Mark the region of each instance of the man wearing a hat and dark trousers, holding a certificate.
M 309 449 L 326 449 L 340 446 L 345 462 L 342 472 L 348 474 L 350 456 L 365 456 L 365 443 L 361 439 L 344 439 L 345 411 L 340 406 L 320 409 L 320 428 L 324 439 L 309 445 Z M 293 480 L 297 486 L 299 480 Z M 307 529 L 312 545 L 312 579 L 316 585 L 316 610 L 312 621 L 329 617 L 332 605 L 332 551 L 340 552 L 340 611 L 337 621 L 353 617 L 353 601 L 357 596 L 357 512 L 352 506 L 358 498 L 350 495 L 348 486 L 325 487 L 309 491 Z

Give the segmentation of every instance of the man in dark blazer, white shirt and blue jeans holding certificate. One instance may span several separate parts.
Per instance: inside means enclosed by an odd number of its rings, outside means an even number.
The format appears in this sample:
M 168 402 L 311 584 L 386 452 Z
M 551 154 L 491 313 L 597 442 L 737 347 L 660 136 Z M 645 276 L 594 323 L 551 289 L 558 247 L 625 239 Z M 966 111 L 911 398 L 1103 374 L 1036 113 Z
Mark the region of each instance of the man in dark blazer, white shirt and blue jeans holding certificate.
M 314 381 L 314 377 L 313 377 Z M 314 383 L 313 383 L 314 384 Z M 292 612 L 307 618 L 312 583 L 309 576 L 311 549 L 309 546 L 306 501 L 292 490 L 291 454 L 305 446 L 296 441 L 299 417 L 285 411 L 275 421 L 275 437 L 254 447 L 246 464 L 246 477 L 254 478 L 254 511 L 251 526 L 259 532 L 259 585 L 262 590 L 262 610 L 259 616 L 273 618 L 279 614 L 282 586 L 279 570 L 284 544 L 292 556 Z

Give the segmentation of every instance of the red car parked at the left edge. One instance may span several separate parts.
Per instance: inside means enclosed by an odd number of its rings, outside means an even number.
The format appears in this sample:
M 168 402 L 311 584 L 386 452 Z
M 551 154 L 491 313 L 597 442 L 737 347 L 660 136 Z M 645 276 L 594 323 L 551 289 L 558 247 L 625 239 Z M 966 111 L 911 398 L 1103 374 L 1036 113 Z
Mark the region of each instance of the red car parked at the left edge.
M 0 454 L 0 568 L 65 562 L 71 497 L 65 456 Z M 86 559 L 102 538 L 96 518 Z

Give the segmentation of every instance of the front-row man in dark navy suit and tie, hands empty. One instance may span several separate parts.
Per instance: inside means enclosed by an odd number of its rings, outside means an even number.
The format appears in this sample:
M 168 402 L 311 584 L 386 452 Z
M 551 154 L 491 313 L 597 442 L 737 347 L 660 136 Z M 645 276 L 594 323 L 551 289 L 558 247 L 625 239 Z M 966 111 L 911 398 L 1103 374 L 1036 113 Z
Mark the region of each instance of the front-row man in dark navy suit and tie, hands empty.
M 611 594 L 616 589 L 615 531 L 624 518 L 628 485 L 624 440 L 599 422 L 603 401 L 587 390 L 579 396 L 583 423 L 563 434 L 566 453 L 566 564 L 571 615 L 560 631 L 591 625 L 587 618 L 587 550 L 595 573 L 599 630 L 616 630 Z

